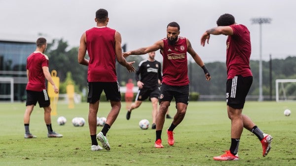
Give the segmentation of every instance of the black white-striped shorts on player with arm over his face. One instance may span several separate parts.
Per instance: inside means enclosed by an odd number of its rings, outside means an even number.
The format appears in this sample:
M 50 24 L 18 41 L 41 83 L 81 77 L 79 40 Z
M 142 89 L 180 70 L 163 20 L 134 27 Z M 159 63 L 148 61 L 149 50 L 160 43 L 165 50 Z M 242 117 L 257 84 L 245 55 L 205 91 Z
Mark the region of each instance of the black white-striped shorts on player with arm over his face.
M 226 82 L 226 103 L 234 109 L 243 109 L 246 96 L 253 82 L 253 77 L 235 76 Z

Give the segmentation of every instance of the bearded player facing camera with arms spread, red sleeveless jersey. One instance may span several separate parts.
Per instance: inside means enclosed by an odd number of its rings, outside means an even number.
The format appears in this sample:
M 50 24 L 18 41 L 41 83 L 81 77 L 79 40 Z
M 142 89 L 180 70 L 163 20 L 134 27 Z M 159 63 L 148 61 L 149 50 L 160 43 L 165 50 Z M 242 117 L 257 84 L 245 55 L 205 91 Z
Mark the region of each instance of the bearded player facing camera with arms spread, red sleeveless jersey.
M 170 103 L 175 97 L 177 113 L 174 116 L 171 126 L 167 129 L 168 144 L 174 145 L 173 130 L 184 119 L 189 97 L 189 79 L 187 75 L 187 52 L 193 57 L 194 61 L 204 70 L 206 80 L 211 76 L 203 61 L 193 50 L 189 40 L 179 36 L 180 26 L 176 22 L 171 22 L 167 26 L 167 37 L 156 41 L 153 45 L 140 48 L 134 51 L 123 53 L 128 55 L 143 55 L 149 52 L 160 50 L 163 56 L 162 84 L 159 96 L 159 111 L 156 116 L 156 141 L 154 147 L 163 148 L 161 133 L 165 120 L 165 114 Z

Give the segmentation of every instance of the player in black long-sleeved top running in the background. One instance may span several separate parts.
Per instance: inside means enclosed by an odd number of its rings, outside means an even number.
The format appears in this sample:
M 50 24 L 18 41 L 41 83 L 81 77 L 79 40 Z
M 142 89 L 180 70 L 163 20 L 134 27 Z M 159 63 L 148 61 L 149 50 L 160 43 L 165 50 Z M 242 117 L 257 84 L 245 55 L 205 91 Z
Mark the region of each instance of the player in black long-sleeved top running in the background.
M 128 108 L 126 113 L 126 119 L 129 120 L 131 111 L 141 106 L 142 102 L 149 98 L 152 103 L 152 129 L 156 129 L 156 115 L 157 115 L 157 103 L 159 97 L 159 83 L 162 81 L 161 77 L 161 64 L 154 59 L 155 52 L 148 53 L 148 58 L 140 62 L 138 69 L 136 70 L 136 81 L 139 87 L 136 101 Z M 139 78 L 141 75 L 141 80 Z

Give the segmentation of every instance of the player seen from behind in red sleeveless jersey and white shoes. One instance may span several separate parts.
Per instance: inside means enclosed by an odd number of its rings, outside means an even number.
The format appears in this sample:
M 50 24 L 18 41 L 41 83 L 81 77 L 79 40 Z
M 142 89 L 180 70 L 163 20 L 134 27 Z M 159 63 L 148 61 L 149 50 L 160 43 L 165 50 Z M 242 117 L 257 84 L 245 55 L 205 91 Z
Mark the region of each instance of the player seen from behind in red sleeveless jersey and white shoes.
M 116 59 L 129 72 L 135 71 L 133 67 L 134 62 L 127 62 L 122 56 L 120 33 L 107 27 L 109 22 L 108 11 L 105 9 L 97 10 L 95 22 L 97 23 L 96 27 L 86 30 L 82 34 L 78 50 L 78 62 L 88 66 L 88 125 L 92 151 L 102 150 L 102 147 L 98 145 L 97 139 L 101 141 L 106 150 L 110 150 L 106 134 L 117 118 L 121 108 L 120 89 L 115 69 Z M 89 60 L 84 58 L 86 51 L 88 52 Z M 110 100 L 111 111 L 107 116 L 107 121 L 102 131 L 96 136 L 97 113 L 103 90 L 106 93 L 107 100 Z

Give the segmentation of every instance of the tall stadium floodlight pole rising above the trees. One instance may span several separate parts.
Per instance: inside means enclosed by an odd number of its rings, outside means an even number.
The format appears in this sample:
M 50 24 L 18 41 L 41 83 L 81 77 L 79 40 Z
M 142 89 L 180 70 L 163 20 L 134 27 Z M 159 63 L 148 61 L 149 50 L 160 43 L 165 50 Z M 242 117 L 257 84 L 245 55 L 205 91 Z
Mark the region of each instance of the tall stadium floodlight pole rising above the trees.
M 270 24 L 271 18 L 254 18 L 251 19 L 252 24 L 259 24 L 259 99 L 263 101 L 262 95 L 262 24 Z

